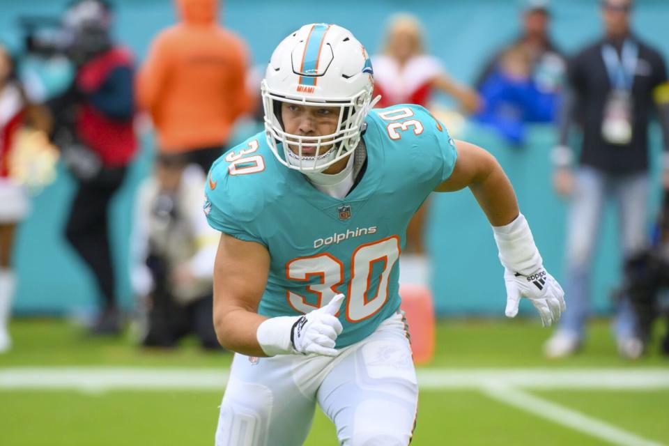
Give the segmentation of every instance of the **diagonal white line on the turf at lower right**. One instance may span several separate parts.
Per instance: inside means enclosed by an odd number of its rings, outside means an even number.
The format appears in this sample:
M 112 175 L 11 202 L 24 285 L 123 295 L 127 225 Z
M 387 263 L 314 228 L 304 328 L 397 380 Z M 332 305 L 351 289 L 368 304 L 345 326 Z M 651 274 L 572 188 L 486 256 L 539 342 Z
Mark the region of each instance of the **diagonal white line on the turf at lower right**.
M 546 401 L 522 390 L 503 385 L 485 387 L 483 392 L 489 397 L 507 403 L 510 406 L 525 410 L 537 417 L 546 418 L 551 422 L 562 424 L 575 431 L 605 440 L 612 445 L 620 446 L 662 446 L 629 431 L 602 422 L 576 410 L 565 408 L 551 401 Z

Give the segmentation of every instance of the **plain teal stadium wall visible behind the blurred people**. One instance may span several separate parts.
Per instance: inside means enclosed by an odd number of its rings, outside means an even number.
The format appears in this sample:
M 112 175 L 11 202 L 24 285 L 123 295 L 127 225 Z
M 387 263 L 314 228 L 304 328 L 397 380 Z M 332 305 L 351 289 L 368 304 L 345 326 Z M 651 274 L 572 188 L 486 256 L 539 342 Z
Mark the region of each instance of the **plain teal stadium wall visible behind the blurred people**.
M 56 15 L 65 1 L 0 0 L 0 39 L 18 47 L 15 18 L 24 14 Z M 117 0 L 116 36 L 141 60 L 151 38 L 176 20 L 167 0 Z M 410 8 L 426 26 L 429 52 L 440 57 L 447 70 L 463 82 L 472 82 L 485 59 L 518 32 L 519 1 L 272 1 L 225 2 L 221 22 L 242 36 L 252 52 L 254 64 L 268 60 L 275 45 L 286 34 L 309 22 L 334 22 L 351 29 L 370 52 L 380 49 L 385 20 L 392 13 Z M 597 38 L 601 20 L 595 0 L 553 1 L 553 37 L 566 52 Z M 669 56 L 669 2 L 640 0 L 633 22 L 638 34 Z M 530 130 L 523 149 L 500 142 L 491 132 L 466 125 L 460 135 L 488 148 L 514 183 L 523 213 L 532 225 L 546 267 L 558 278 L 563 275 L 565 203 L 551 189 L 548 151 L 554 132 L 548 126 Z M 118 271 L 118 289 L 126 307 L 133 297 L 128 281 L 130 215 L 134 192 L 148 173 L 151 137 L 144 144 L 118 197 L 112 215 L 112 243 Z M 660 138 L 652 128 L 652 151 L 659 152 Z M 653 167 L 657 178 L 657 167 Z M 33 201 L 33 213 L 22 224 L 16 249 L 20 286 L 15 311 L 20 314 L 89 312 L 98 291 L 89 272 L 63 238 L 75 183 L 60 171 L 54 185 Z M 659 192 L 651 198 L 649 220 Z M 617 227 L 613 210 L 599 233 L 599 249 L 592 283 L 594 309 L 610 311 L 610 291 L 620 278 Z M 439 314 L 502 314 L 505 304 L 502 268 L 490 226 L 468 191 L 435 195 L 432 199 L 427 238 L 436 275 L 433 291 Z M 528 310 L 528 307 L 524 307 Z

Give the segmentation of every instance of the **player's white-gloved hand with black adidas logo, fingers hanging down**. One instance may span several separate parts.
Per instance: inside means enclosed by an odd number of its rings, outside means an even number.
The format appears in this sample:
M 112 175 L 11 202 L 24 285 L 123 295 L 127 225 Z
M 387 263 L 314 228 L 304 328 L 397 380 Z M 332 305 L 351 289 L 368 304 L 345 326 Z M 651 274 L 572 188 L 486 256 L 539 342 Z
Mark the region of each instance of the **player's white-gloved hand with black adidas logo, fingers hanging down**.
M 512 272 L 505 268 L 504 282 L 507 286 L 506 315 L 512 318 L 518 314 L 518 303 L 521 297 L 528 298 L 535 306 L 541 323 L 548 327 L 560 319 L 567 305 L 564 303 L 564 291 L 544 267 L 525 276 L 519 272 Z

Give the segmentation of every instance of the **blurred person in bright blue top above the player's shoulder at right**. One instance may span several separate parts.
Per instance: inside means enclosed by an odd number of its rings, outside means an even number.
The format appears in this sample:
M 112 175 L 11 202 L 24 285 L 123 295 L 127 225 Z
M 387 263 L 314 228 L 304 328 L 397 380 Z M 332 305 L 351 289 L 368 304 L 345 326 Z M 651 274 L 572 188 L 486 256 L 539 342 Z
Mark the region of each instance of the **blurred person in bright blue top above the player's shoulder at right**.
M 475 116 L 477 121 L 495 128 L 512 144 L 523 144 L 526 123 L 551 122 L 555 117 L 557 92 L 539 89 L 525 45 L 505 50 L 479 93 L 484 106 Z

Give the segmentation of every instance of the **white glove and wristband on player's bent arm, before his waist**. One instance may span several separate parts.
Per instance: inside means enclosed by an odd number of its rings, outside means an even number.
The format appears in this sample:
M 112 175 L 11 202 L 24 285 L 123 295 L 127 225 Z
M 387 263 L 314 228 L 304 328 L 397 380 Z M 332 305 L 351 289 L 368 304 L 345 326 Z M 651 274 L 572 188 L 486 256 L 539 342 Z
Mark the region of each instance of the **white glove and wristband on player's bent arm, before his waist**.
M 268 356 L 298 353 L 337 356 L 337 336 L 344 328 L 334 316 L 346 296 L 337 294 L 324 307 L 304 316 L 269 318 L 258 327 L 256 338 Z

